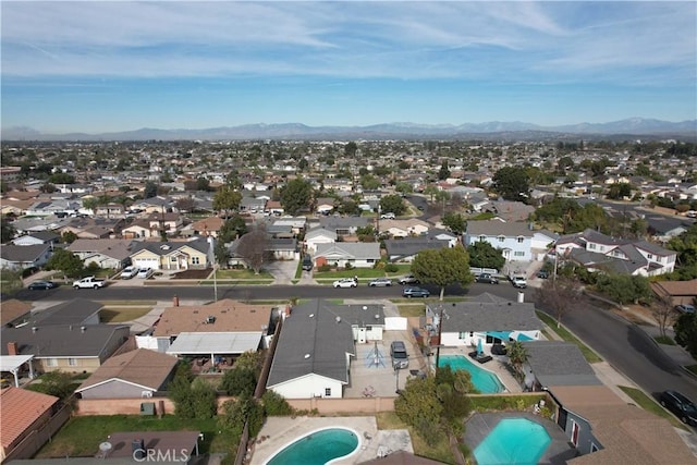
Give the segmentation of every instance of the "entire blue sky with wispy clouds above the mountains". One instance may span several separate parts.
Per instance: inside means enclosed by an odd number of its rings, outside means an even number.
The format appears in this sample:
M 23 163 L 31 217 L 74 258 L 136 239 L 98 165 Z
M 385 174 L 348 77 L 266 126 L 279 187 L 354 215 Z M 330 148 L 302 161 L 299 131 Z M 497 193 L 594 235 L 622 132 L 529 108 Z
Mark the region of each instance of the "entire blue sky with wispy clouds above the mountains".
M 3 127 L 697 118 L 697 2 L 5 1 Z

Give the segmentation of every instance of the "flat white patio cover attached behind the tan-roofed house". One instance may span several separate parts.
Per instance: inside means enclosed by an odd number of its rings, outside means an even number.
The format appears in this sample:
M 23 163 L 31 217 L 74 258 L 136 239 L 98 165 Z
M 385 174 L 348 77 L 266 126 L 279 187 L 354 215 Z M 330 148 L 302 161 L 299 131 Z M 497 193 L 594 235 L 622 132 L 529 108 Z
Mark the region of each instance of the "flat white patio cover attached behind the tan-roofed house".
M 167 350 L 173 355 L 239 355 L 256 351 L 261 343 L 261 331 L 256 332 L 183 332 Z

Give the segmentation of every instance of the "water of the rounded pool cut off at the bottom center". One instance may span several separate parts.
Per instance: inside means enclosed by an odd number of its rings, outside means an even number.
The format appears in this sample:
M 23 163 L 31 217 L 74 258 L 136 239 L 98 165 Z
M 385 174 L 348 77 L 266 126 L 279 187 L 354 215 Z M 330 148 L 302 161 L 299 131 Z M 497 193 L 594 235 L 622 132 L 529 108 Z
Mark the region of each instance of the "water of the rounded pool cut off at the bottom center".
M 325 465 L 357 448 L 356 433 L 343 428 L 328 428 L 293 442 L 273 455 L 267 465 Z

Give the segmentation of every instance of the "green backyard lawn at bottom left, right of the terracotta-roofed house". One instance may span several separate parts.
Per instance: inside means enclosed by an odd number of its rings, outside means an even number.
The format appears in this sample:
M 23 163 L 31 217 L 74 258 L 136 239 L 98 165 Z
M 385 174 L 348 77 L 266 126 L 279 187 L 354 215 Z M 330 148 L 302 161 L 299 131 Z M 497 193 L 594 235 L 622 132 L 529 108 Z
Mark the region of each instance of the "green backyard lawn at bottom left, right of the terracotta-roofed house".
M 200 431 L 204 440 L 199 452 L 230 452 L 231 438 L 219 433 L 215 418 L 206 420 L 180 419 L 173 415 L 142 417 L 135 415 L 72 417 L 36 454 L 36 458 L 94 456 L 99 444 L 112 432 L 120 431 Z M 130 444 L 127 444 L 130 446 Z

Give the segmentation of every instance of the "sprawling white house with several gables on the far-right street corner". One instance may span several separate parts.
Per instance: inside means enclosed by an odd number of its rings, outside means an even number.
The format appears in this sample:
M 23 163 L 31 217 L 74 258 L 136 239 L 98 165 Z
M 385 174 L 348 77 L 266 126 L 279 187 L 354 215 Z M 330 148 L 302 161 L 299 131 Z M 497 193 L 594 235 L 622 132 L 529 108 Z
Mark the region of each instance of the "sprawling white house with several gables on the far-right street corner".
M 676 253 L 647 241 L 614 238 L 594 230 L 562 236 L 555 253 L 588 271 L 655 277 L 675 268 Z

